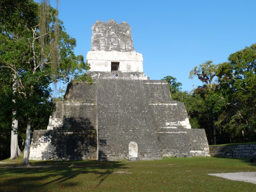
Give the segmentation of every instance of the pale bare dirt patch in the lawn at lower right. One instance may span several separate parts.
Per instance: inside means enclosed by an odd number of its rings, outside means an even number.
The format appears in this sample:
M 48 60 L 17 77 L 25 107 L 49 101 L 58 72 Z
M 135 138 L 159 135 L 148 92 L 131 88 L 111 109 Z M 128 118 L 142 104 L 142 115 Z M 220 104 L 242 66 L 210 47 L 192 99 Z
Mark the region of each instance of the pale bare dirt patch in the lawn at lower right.
M 209 175 L 222 177 L 234 181 L 243 181 L 256 184 L 256 172 L 210 173 Z

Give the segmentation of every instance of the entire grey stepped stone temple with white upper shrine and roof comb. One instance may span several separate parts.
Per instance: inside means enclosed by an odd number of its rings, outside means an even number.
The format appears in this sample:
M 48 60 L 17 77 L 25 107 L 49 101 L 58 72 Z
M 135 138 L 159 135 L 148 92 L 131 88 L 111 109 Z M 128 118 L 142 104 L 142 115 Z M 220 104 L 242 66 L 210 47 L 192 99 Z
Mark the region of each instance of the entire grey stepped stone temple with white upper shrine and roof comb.
M 68 84 L 47 130 L 34 131 L 30 160 L 210 156 L 204 129 L 191 129 L 168 83 L 144 74 L 127 22 L 96 21 L 87 62 L 92 85 Z

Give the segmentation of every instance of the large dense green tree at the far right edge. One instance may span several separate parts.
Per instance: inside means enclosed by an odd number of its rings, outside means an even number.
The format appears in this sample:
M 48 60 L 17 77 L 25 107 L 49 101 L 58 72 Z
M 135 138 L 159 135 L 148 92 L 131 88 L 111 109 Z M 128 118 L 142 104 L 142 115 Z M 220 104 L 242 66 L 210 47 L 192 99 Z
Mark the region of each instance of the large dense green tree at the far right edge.
M 216 72 L 219 87 L 228 99 L 218 121 L 229 132 L 231 142 L 255 140 L 256 137 L 256 44 L 232 53 Z

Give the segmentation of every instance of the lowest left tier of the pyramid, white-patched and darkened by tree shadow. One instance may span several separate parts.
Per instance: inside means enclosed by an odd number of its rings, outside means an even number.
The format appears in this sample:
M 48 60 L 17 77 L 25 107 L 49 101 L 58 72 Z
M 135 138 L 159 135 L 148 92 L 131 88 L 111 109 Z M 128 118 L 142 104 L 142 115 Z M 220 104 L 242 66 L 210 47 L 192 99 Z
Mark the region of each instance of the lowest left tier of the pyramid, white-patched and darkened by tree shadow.
M 34 130 L 30 160 L 97 159 L 97 134 L 94 131 L 62 132 Z

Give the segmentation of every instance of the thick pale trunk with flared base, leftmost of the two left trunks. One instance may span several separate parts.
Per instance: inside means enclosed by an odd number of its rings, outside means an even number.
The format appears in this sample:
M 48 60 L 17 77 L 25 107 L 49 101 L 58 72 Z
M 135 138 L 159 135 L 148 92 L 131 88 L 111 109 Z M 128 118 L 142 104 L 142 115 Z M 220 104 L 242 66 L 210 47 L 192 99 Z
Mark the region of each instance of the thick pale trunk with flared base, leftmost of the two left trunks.
M 17 76 L 16 74 L 13 75 L 13 84 L 12 84 L 12 93 L 15 95 L 17 91 Z M 15 99 L 12 100 L 13 103 L 15 103 Z M 15 117 L 16 111 L 12 112 L 13 116 Z M 22 155 L 21 150 L 19 149 L 18 145 L 18 133 L 16 131 L 18 130 L 18 120 L 15 118 L 12 120 L 12 133 L 11 133 L 11 160 L 15 160 L 18 158 L 18 156 Z

